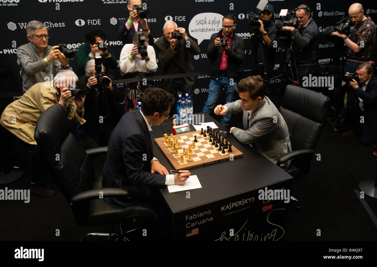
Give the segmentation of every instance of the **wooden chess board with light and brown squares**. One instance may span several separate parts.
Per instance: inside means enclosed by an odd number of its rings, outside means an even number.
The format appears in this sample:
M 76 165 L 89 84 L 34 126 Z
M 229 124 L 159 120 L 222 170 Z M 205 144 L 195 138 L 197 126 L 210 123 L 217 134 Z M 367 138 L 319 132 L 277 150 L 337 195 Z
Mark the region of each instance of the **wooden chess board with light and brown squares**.
M 215 145 L 212 145 L 208 141 L 210 139 L 208 135 L 207 137 L 203 137 L 200 132 L 201 131 L 199 130 L 195 132 L 174 135 L 176 141 L 181 142 L 180 145 L 182 148 L 178 150 L 179 154 L 183 152 L 183 147 L 187 152 L 189 152 L 189 144 L 192 144 L 192 141 L 194 141 L 195 139 L 194 135 L 196 135 L 197 142 L 195 143 L 195 148 L 193 148 L 193 153 L 191 154 L 191 162 L 187 161 L 188 158 L 184 158 L 185 163 L 181 163 L 181 156 L 175 157 L 173 150 L 170 150 L 168 145 L 165 143 L 165 137 L 155 138 L 155 142 L 162 150 L 164 155 L 168 158 L 175 170 L 192 169 L 219 161 L 230 160 L 231 156 L 233 156 L 233 158 L 238 158 L 244 155 L 241 151 L 234 147 L 233 144 L 231 148 L 232 152 L 228 152 L 228 149 L 225 149 L 225 153 L 223 154 L 222 150 L 219 151 L 218 147 L 216 148 Z

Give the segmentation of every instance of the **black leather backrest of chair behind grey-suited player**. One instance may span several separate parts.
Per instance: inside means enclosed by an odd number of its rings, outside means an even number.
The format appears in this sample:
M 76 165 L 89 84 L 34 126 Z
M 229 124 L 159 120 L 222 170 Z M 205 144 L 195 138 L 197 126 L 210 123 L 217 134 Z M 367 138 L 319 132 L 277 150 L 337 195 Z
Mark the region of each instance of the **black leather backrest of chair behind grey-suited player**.
M 323 94 L 287 85 L 279 108 L 290 133 L 292 150 L 315 149 L 330 99 Z

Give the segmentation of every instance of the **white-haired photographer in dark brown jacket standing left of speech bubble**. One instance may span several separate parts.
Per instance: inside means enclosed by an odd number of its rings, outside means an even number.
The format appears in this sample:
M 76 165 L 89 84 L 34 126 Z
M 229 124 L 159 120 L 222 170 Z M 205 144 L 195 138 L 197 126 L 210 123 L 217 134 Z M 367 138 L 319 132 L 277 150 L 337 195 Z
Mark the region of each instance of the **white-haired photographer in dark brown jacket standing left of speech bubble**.
M 178 28 L 172 20 L 166 21 L 163 31 L 164 36 L 156 41 L 156 47 L 158 61 L 164 68 L 164 75 L 194 72 L 194 67 L 189 60 L 189 53 L 199 55 L 198 44 L 187 36 L 184 28 Z M 190 97 L 193 96 L 195 80 L 196 77 L 165 79 L 162 81 L 161 87 L 174 96 L 176 103 L 179 92 L 182 96 L 186 93 Z M 175 114 L 175 110 L 171 107 L 170 114 Z

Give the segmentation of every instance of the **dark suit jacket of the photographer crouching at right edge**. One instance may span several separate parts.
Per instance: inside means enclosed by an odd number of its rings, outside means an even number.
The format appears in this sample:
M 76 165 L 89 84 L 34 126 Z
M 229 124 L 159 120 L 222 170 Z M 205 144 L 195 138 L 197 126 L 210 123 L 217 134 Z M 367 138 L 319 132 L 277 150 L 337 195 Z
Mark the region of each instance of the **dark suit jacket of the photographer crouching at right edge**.
M 365 92 L 361 87 L 355 89 L 355 94 L 364 101 L 365 117 L 377 132 L 377 76 L 372 75 Z

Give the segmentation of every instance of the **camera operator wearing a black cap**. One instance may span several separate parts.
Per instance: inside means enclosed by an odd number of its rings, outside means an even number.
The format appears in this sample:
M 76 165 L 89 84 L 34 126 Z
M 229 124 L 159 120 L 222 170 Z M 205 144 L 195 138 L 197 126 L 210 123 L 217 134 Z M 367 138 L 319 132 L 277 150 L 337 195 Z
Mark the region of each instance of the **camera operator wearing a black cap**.
M 267 74 L 271 71 L 273 68 L 273 63 L 275 61 L 275 54 L 276 50 L 272 47 L 273 41 L 276 40 L 276 27 L 275 23 L 271 20 L 274 14 L 274 7 L 272 5 L 266 5 L 263 12 L 261 13 L 261 19 L 258 20 L 261 23 L 261 26 L 257 29 L 259 29 L 259 32 L 257 34 L 260 34 L 263 38 L 263 52 L 264 52 L 264 61 L 266 64 L 266 71 Z M 253 36 L 255 33 L 250 35 Z M 262 53 L 259 52 L 257 54 L 257 61 L 258 63 L 262 63 Z

